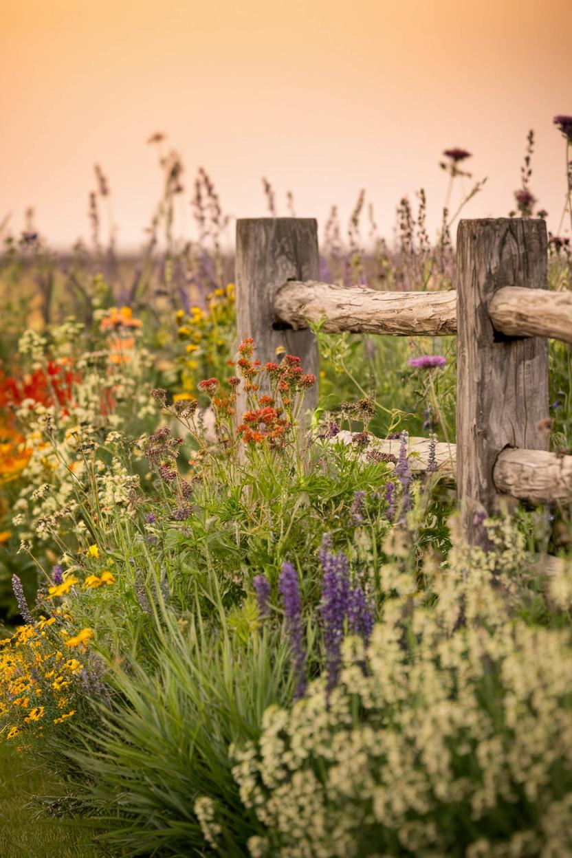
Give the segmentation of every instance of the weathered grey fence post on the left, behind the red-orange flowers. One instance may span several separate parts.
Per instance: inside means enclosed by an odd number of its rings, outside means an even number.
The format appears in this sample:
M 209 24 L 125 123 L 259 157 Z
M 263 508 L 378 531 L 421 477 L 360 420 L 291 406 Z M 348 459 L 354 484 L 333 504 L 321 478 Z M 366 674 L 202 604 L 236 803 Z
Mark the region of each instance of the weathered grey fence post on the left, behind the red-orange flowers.
M 255 357 L 262 363 L 276 360 L 276 348 L 302 360 L 304 372 L 318 375 L 316 336 L 308 329 L 292 330 L 278 323 L 274 295 L 288 280 L 320 278 L 317 222 L 314 218 L 246 218 L 237 222 L 237 329 L 238 340 L 254 337 Z M 315 408 L 317 383 L 304 403 Z M 237 413 L 244 410 L 238 396 Z

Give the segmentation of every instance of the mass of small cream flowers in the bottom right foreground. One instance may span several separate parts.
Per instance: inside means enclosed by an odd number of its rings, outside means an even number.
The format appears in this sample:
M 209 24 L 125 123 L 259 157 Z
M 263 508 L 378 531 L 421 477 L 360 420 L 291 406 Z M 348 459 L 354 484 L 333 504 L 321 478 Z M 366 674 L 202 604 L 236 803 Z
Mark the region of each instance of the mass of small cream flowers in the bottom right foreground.
M 570 632 L 515 619 L 502 583 L 515 539 L 498 535 L 494 559 L 455 550 L 433 607 L 390 574 L 402 595 L 367 651 L 346 640 L 328 702 L 316 680 L 233 749 L 268 831 L 253 858 L 572 855 Z

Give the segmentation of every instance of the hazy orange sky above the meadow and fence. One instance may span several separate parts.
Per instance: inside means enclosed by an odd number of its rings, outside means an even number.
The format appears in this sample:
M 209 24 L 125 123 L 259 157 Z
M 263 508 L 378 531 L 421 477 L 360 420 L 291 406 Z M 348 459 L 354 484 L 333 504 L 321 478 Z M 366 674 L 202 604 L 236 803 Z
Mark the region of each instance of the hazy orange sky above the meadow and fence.
M 362 187 L 391 234 L 400 196 L 424 186 L 437 225 L 443 148 L 489 177 L 467 216 L 513 205 L 527 131 L 532 189 L 556 230 L 572 113 L 569 0 L 0 0 L 0 221 L 27 205 L 56 245 L 89 234 L 99 161 L 123 246 L 143 239 L 165 131 L 232 215 L 266 214 L 261 177 L 297 214 L 344 224 Z M 468 162 L 467 162 L 468 164 Z M 455 202 L 455 201 L 454 201 Z

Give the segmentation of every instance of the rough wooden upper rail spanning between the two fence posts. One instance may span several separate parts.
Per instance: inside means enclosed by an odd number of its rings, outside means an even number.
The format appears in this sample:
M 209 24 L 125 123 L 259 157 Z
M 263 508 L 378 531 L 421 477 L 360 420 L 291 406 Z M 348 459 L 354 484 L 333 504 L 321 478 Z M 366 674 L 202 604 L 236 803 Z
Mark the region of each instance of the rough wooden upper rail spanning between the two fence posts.
M 286 283 L 274 299 L 276 317 L 295 330 L 320 322 L 342 331 L 439 336 L 457 330 L 457 296 L 449 292 L 377 292 L 332 283 Z

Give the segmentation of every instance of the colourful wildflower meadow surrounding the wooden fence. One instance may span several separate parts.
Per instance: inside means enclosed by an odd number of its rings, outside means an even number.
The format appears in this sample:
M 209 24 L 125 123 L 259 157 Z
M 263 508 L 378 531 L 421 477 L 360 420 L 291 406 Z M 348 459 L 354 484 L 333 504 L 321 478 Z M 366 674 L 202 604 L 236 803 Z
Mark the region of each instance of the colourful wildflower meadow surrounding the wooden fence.
M 553 133 L 565 296 L 572 117 Z M 317 368 L 284 326 L 272 354 L 239 340 L 232 219 L 208 172 L 189 189 L 149 145 L 163 190 L 138 255 L 100 167 L 89 243 L 52 251 L 33 212 L 3 227 L 0 856 L 572 855 L 570 498 L 507 494 L 487 546 L 467 541 L 455 336 L 322 320 Z M 499 216 L 545 221 L 533 155 L 531 131 Z M 443 151 L 435 237 L 424 190 L 394 240 L 365 192 L 347 232 L 334 207 L 322 281 L 455 289 L 471 157 Z M 548 349 L 535 429 L 566 462 L 572 345 Z

